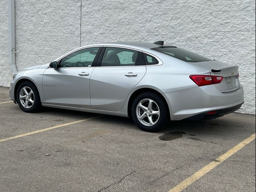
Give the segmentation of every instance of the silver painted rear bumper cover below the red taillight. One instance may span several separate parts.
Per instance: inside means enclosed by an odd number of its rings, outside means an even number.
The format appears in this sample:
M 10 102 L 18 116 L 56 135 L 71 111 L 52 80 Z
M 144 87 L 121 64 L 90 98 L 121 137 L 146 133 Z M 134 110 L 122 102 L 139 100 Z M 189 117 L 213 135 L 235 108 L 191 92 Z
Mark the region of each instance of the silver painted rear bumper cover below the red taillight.
M 171 120 L 182 120 L 214 110 L 230 108 L 233 112 L 233 108 L 237 110 L 244 102 L 244 89 L 240 85 L 238 90 L 222 93 L 214 85 L 209 85 L 168 92 L 163 96 L 168 102 Z M 224 112 L 218 114 L 222 116 Z

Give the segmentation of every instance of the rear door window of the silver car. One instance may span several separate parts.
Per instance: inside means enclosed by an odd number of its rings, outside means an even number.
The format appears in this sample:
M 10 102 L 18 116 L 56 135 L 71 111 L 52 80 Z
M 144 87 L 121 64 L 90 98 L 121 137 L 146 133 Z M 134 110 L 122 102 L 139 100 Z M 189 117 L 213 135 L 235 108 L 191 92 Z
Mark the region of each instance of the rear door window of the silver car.
M 106 47 L 101 66 L 145 65 L 142 52 L 117 47 Z

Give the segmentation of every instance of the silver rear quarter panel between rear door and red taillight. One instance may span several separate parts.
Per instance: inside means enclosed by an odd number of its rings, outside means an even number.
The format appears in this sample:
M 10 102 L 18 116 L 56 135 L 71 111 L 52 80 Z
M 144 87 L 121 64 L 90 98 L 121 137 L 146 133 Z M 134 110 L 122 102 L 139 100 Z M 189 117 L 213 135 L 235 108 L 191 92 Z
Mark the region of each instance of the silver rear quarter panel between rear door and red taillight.
M 162 65 L 147 65 L 144 78 L 136 87 L 155 87 L 161 93 L 196 87 L 197 85 L 189 78 L 190 74 L 210 74 L 209 71 L 198 69 L 188 63 L 158 53 Z

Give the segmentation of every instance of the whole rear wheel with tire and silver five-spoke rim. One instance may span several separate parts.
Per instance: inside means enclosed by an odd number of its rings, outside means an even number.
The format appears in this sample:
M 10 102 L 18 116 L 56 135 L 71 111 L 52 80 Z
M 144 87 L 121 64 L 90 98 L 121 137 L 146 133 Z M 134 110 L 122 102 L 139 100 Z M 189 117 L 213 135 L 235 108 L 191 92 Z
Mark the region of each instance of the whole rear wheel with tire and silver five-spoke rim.
M 138 95 L 132 103 L 132 119 L 147 132 L 159 131 L 167 120 L 167 106 L 162 97 L 154 92 Z

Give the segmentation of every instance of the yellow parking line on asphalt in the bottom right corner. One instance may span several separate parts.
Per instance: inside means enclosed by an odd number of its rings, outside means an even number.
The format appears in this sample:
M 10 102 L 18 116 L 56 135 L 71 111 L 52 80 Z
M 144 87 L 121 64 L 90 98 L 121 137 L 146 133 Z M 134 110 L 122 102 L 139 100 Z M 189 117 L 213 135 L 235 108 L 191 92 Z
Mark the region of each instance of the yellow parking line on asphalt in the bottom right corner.
M 234 146 L 232 149 L 228 150 L 223 155 L 216 158 L 214 161 L 210 162 L 208 165 L 206 165 L 204 168 L 200 169 L 198 172 L 194 173 L 192 176 L 186 178 L 184 181 L 180 182 L 180 184 L 176 185 L 174 188 L 170 189 L 168 192 L 180 192 L 184 189 L 186 189 L 188 186 L 190 186 L 192 183 L 194 183 L 196 180 L 204 176 L 206 173 L 208 173 L 210 170 L 221 164 L 224 160 L 238 152 L 238 150 L 242 149 L 244 146 L 249 144 L 255 139 L 255 133 L 248 137 L 247 139 L 240 142 L 238 145 Z

